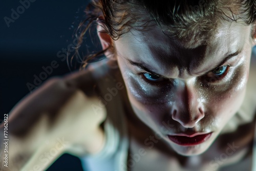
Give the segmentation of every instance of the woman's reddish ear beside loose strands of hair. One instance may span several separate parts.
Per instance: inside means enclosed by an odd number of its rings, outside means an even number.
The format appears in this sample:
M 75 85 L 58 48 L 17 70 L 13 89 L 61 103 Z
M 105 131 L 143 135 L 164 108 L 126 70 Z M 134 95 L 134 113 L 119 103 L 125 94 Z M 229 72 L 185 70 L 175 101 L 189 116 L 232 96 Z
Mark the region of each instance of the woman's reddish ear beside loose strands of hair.
M 98 33 L 98 37 L 101 43 L 101 47 L 102 50 L 106 50 L 105 51 L 105 56 L 109 59 L 113 59 L 114 58 L 114 52 L 113 52 L 113 48 L 114 48 L 114 40 L 112 39 L 112 37 L 109 35 L 109 32 L 107 29 L 107 27 L 104 25 L 103 22 L 101 22 L 102 20 L 104 20 L 103 16 L 98 17 L 97 19 L 97 33 Z

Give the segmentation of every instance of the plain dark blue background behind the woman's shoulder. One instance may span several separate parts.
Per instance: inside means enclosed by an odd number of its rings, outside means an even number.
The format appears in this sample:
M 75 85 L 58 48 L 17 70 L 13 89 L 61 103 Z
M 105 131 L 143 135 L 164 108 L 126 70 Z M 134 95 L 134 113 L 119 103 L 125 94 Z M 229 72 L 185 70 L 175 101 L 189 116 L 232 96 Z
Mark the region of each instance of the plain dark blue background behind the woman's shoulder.
M 43 66 L 50 66 L 53 60 L 59 65 L 48 78 L 70 72 L 67 61 L 58 58 L 57 52 L 72 43 L 87 4 L 87 0 L 36 0 L 8 27 L 4 17 L 11 18 L 11 9 L 17 11 L 21 4 L 19 1 L 0 2 L 1 118 L 30 93 L 26 84 L 33 83 L 34 75 L 39 76 L 44 71 Z M 78 158 L 66 154 L 49 170 L 82 169 Z

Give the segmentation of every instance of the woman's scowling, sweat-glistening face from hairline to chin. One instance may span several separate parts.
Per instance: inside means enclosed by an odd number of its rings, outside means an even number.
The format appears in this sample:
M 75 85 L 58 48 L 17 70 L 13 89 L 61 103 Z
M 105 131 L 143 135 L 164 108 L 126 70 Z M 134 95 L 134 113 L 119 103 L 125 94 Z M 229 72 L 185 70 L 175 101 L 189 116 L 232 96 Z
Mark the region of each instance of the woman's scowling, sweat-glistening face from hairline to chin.
M 132 30 L 114 41 L 135 114 L 177 153 L 206 151 L 240 108 L 250 29 L 220 23 L 207 46 L 170 39 L 157 27 L 143 34 Z

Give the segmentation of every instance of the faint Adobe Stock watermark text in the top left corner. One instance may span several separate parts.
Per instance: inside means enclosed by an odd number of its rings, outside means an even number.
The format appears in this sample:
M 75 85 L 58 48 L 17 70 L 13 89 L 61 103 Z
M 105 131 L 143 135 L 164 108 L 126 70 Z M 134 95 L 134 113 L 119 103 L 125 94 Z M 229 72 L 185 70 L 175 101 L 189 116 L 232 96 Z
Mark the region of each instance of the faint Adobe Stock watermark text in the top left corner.
M 14 23 L 15 20 L 19 18 L 21 14 L 25 12 L 25 9 L 28 9 L 30 7 L 30 3 L 34 3 L 36 0 L 20 0 L 19 3 L 21 4 L 14 10 L 13 8 L 11 9 L 12 13 L 11 16 L 5 16 L 4 20 L 7 25 L 7 27 L 10 27 L 10 23 Z

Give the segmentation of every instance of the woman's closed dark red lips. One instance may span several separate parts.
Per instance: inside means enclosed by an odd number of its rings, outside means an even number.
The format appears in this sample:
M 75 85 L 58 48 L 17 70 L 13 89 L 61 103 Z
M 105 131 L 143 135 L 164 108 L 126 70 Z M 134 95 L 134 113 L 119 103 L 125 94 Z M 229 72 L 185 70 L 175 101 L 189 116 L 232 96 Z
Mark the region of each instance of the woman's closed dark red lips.
M 183 146 L 197 145 L 205 142 L 210 138 L 212 133 L 193 134 L 193 135 L 168 135 L 168 138 L 176 144 Z

